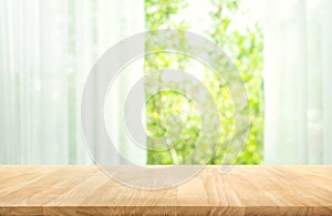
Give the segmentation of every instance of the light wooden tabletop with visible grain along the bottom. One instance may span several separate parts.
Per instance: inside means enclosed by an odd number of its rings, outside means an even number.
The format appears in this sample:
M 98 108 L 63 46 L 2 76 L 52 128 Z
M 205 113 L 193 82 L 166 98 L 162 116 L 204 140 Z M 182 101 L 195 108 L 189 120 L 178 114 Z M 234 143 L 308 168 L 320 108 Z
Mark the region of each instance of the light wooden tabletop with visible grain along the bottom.
M 95 166 L 0 166 L 0 215 L 332 215 L 332 166 L 207 166 L 169 189 Z

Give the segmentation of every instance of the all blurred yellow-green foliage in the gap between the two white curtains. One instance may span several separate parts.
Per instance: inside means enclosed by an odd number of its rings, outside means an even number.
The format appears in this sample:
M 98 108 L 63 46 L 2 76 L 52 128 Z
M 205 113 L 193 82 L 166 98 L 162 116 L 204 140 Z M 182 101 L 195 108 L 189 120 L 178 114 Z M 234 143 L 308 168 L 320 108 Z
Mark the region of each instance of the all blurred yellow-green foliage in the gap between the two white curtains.
M 145 0 L 146 28 L 148 30 L 167 28 L 188 30 L 190 28 L 189 20 L 180 20 L 177 17 L 181 10 L 188 7 L 188 3 L 189 1 L 185 0 Z M 237 160 L 237 164 L 260 164 L 262 163 L 263 144 L 261 23 L 257 22 L 243 28 L 232 22 L 243 13 L 239 10 L 241 1 L 211 0 L 210 3 L 211 10 L 207 16 L 209 16 L 212 25 L 208 27 L 205 33 L 234 60 L 246 83 L 249 97 L 250 131 L 248 140 L 240 155 L 234 151 L 231 157 Z M 148 47 L 152 42 L 152 39 L 147 38 L 145 45 Z M 167 68 L 185 70 L 188 64 L 190 64 L 188 56 L 183 54 L 154 53 L 145 56 L 145 73 L 148 74 Z M 220 84 L 207 66 L 201 70 L 205 74 L 203 82 L 209 89 L 222 113 L 219 119 L 222 125 L 221 135 L 219 136 L 217 131 L 214 133 L 214 128 L 210 128 L 210 136 L 198 146 L 197 140 L 201 125 L 195 103 L 177 92 L 162 92 L 148 99 L 146 104 L 146 123 L 149 133 L 147 164 L 221 164 L 227 146 L 218 147 L 212 154 L 216 145 L 215 137 L 218 135 L 219 142 L 225 143 L 229 136 L 234 135 L 235 107 L 227 84 Z M 158 86 L 162 80 L 162 76 L 155 78 L 155 84 Z M 176 119 L 176 116 L 180 117 Z M 210 119 L 211 121 L 215 120 L 214 116 Z M 181 131 L 180 134 L 179 130 Z M 167 137 L 167 146 L 158 148 L 159 138 L 165 136 Z M 232 153 L 231 150 L 229 152 Z M 206 155 L 212 156 L 205 161 Z

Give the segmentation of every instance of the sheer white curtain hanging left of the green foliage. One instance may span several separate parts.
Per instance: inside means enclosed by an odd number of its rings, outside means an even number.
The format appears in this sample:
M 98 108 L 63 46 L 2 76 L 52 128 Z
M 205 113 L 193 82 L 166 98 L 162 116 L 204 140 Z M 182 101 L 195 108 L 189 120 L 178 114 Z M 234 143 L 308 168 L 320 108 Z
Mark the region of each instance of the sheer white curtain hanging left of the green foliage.
M 142 30 L 143 0 L 1 0 L 0 163 L 91 163 L 80 125 L 85 79 L 108 48 Z

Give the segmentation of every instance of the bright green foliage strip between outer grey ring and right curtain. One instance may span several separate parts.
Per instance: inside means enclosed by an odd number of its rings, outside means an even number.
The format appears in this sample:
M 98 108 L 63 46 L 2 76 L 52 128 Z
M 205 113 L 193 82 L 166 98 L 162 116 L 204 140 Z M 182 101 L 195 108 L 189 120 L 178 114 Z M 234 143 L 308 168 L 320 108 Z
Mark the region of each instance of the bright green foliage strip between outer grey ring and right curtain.
M 252 27 L 235 27 L 232 20 L 243 16 L 238 0 L 212 0 L 214 21 L 210 38 L 234 60 L 246 83 L 249 97 L 250 131 L 238 164 L 262 163 L 263 148 L 263 80 L 262 80 L 262 27 L 261 22 Z

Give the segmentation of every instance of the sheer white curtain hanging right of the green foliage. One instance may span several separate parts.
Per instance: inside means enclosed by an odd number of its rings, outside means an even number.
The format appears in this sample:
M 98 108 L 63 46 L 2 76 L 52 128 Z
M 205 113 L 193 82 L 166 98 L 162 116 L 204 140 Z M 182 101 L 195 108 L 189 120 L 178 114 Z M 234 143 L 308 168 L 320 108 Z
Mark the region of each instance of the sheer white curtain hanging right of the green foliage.
M 332 1 L 266 1 L 264 163 L 332 164 Z

